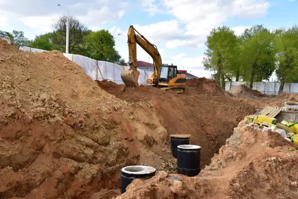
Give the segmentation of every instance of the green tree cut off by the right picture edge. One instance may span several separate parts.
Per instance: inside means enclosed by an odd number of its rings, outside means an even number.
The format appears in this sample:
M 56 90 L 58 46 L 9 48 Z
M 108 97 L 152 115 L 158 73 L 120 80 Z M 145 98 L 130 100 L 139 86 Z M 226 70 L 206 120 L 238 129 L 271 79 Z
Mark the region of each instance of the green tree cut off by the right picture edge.
M 276 48 L 276 74 L 280 81 L 279 93 L 283 91 L 285 82 L 298 82 L 298 27 L 275 31 L 274 46 Z

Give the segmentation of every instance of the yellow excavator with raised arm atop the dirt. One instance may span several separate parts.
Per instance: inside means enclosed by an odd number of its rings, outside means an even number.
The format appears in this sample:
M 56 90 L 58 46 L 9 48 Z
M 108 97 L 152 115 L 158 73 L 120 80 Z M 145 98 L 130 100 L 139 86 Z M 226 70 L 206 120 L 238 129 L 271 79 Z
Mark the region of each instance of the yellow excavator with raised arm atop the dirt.
M 136 54 L 136 44 L 139 44 L 151 56 L 154 62 L 153 73 L 150 78 L 146 79 L 146 83 L 153 84 L 153 86 L 167 90 L 168 92 L 183 93 L 186 85 L 186 74 L 179 73 L 177 66 L 173 64 L 163 64 L 157 47 L 135 30 L 132 25 L 128 30 L 127 36 L 130 69 L 121 71 L 121 79 L 125 85 L 131 87 L 139 85 L 138 78 L 140 72 L 137 71 Z

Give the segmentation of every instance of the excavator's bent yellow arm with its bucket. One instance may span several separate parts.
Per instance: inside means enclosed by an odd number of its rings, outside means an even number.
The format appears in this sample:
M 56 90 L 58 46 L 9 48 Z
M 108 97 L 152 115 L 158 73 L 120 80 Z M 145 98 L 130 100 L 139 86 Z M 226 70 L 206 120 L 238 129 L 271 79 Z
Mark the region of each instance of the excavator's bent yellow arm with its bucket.
M 137 32 L 139 35 L 135 34 Z M 137 71 L 137 52 L 136 44 L 139 44 L 153 59 L 153 73 L 150 78 L 147 79 L 148 83 L 157 83 L 160 67 L 162 65 L 162 59 L 156 48 L 156 46 L 150 43 L 143 35 L 136 31 L 131 25 L 128 31 L 128 46 L 129 46 L 129 70 L 123 70 L 121 72 L 121 79 L 128 86 L 137 86 L 140 72 Z

